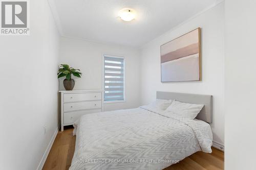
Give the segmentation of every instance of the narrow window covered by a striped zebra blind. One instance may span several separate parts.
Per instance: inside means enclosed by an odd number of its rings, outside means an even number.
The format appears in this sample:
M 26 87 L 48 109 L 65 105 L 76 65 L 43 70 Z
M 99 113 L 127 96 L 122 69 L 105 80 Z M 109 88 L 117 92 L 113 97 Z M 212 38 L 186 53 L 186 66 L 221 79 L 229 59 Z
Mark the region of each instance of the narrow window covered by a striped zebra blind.
M 104 102 L 124 101 L 124 59 L 104 55 Z

